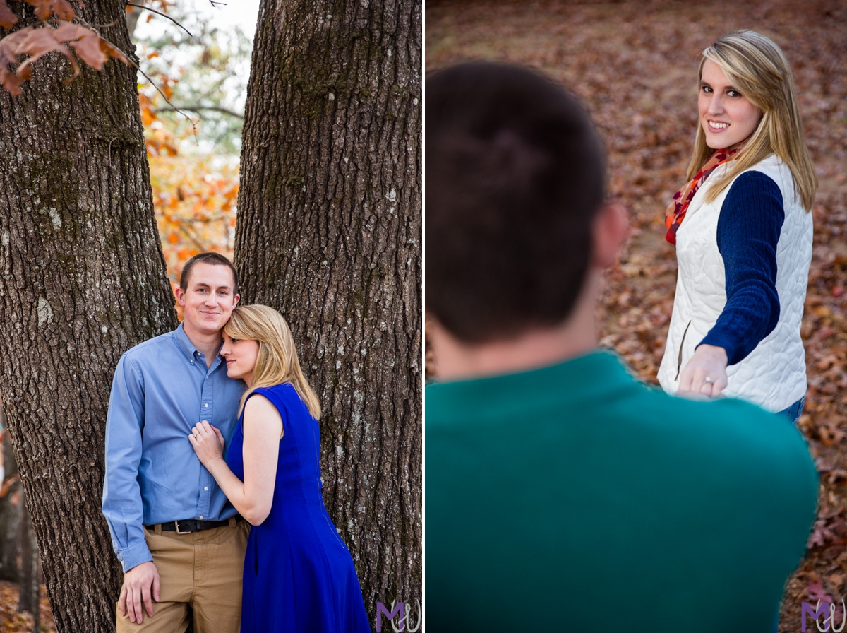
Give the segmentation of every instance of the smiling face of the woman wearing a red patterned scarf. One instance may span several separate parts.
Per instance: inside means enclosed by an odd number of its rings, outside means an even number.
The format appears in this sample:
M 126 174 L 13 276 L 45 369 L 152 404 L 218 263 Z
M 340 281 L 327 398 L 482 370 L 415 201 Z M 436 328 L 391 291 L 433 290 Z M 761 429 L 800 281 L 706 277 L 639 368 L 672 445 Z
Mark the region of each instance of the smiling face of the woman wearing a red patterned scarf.
M 721 67 L 711 59 L 703 64 L 697 107 L 700 125 L 706 132 L 706 145 L 712 149 L 732 147 L 744 141 L 761 120 L 761 110 L 729 83 Z

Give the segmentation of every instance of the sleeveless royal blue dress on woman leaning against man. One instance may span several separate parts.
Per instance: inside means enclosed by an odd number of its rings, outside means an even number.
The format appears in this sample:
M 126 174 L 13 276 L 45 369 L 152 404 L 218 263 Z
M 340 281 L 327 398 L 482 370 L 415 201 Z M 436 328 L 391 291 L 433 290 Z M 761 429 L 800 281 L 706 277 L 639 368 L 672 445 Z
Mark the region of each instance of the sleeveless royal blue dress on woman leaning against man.
M 270 514 L 247 541 L 241 633 L 370 633 L 353 560 L 324 508 L 318 422 L 291 384 L 253 393 L 280 411 L 283 436 Z M 241 480 L 243 446 L 242 414 L 227 454 Z

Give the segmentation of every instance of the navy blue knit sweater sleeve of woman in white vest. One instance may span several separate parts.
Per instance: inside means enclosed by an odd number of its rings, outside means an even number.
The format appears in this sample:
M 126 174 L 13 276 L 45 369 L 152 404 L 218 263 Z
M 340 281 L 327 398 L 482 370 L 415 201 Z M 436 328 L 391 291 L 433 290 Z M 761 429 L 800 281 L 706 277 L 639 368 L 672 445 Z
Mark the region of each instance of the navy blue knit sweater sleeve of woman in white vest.
M 784 220 L 783 194 L 772 179 L 758 171 L 735 179 L 717 219 L 727 303 L 699 343 L 723 347 L 731 365 L 777 326 L 777 242 Z

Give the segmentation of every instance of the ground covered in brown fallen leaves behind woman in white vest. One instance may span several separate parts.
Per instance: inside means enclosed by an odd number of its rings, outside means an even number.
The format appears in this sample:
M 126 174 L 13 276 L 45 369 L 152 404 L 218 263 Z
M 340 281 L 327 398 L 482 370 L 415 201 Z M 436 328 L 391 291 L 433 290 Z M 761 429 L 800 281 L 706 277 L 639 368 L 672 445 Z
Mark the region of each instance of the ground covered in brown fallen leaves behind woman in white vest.
M 742 28 L 770 36 L 789 58 L 820 178 L 800 428 L 821 471 L 821 493 L 809 550 L 783 597 L 779 630 L 794 633 L 800 603 L 840 601 L 847 580 L 847 5 L 428 1 L 426 67 L 473 58 L 527 64 L 581 98 L 606 142 L 612 197 L 626 204 L 633 227 L 620 264 L 606 275 L 602 342 L 655 383 L 676 280 L 664 211 L 690 158 L 698 56 Z

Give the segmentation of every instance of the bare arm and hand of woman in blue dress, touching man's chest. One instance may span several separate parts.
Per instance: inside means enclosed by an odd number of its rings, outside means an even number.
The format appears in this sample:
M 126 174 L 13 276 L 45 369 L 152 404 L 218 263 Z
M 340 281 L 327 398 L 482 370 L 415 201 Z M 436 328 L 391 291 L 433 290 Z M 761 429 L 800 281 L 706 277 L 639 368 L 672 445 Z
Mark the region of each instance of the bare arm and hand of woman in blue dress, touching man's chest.
M 244 481 L 224 461 L 224 436 L 218 429 L 198 422 L 188 439 L 235 509 L 252 525 L 260 525 L 268 518 L 274 501 L 282 418 L 268 398 L 255 394 L 244 405 L 243 424 Z

